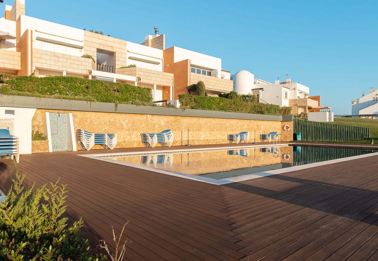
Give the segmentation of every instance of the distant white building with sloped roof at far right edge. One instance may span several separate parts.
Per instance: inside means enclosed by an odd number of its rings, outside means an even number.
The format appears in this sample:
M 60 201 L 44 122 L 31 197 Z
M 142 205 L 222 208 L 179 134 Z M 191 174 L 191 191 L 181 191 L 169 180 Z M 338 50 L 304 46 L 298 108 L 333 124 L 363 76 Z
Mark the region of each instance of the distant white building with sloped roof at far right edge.
M 378 114 L 378 90 L 370 88 L 369 94 L 352 101 L 352 115 Z

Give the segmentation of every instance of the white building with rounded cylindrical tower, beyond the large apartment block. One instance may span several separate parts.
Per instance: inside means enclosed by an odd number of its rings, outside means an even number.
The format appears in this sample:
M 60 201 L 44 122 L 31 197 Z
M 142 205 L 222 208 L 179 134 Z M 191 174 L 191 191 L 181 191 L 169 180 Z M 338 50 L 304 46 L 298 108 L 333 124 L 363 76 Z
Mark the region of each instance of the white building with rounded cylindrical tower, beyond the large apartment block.
M 319 112 L 330 109 L 320 105 L 320 96 L 310 96 L 310 88 L 294 83 L 290 79 L 276 80 L 274 83 L 254 78 L 254 74 L 242 70 L 232 75 L 234 91 L 239 94 L 254 94 L 260 103 L 277 104 L 292 108 L 292 114 L 307 115 L 308 112 Z

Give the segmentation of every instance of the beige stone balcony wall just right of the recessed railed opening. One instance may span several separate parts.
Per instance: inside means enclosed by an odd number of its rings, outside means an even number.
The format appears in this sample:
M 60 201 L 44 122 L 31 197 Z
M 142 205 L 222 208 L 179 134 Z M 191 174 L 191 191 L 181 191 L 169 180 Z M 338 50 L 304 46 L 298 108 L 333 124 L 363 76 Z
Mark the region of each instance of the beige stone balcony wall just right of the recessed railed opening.
M 160 86 L 173 86 L 173 74 L 159 72 L 139 67 L 118 68 L 118 74 L 131 75 L 141 78 L 141 83 L 157 84 Z

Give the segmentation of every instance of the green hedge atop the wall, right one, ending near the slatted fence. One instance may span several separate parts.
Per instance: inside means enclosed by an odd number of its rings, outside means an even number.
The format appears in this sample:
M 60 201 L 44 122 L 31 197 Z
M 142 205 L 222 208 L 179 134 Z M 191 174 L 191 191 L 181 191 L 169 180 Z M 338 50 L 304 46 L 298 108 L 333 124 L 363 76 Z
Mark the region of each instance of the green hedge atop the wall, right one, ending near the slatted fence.
M 191 94 L 178 95 L 182 109 L 197 109 L 208 111 L 243 112 L 251 114 L 271 114 L 288 116 L 291 107 L 280 107 L 275 104 L 249 102 L 240 98 L 222 98 L 210 96 L 195 96 Z

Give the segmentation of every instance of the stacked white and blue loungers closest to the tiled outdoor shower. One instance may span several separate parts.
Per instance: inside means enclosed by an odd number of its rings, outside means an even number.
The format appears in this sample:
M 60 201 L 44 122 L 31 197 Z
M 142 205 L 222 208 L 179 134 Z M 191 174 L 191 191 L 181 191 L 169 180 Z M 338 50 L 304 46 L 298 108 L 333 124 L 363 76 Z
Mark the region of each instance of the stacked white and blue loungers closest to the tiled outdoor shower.
M 76 130 L 76 141 L 81 149 L 90 150 L 95 145 L 105 149 L 114 149 L 117 145 L 117 134 L 92 133 L 86 130 Z

